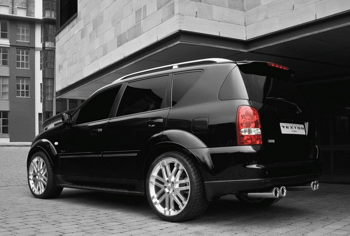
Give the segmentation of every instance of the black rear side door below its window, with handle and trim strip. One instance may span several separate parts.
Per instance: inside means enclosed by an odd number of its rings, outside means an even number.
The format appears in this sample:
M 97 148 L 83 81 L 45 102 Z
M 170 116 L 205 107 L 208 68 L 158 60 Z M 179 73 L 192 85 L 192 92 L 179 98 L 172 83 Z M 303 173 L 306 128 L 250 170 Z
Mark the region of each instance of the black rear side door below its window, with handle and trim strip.
M 169 109 L 114 118 L 106 126 L 106 148 L 102 156 L 105 177 L 138 179 L 139 156 L 147 141 L 165 129 Z

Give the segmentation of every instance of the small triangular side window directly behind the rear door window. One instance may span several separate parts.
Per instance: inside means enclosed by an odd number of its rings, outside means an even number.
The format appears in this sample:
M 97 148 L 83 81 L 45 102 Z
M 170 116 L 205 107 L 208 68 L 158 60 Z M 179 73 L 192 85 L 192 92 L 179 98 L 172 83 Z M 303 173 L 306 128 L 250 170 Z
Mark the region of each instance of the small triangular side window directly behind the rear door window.
M 172 79 L 171 105 L 174 106 L 202 75 L 202 71 L 174 74 Z

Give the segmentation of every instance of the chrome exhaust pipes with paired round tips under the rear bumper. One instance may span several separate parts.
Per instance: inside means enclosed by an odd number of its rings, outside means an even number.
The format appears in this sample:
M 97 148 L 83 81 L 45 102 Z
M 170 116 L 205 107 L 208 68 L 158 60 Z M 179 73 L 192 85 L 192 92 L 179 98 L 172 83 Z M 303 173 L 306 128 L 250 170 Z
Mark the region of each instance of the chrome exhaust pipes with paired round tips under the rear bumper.
M 316 191 L 319 188 L 318 181 L 312 181 L 307 185 L 303 186 L 291 186 L 291 187 L 274 187 L 270 191 L 261 192 L 261 193 L 243 193 L 242 195 L 248 198 L 283 198 L 287 194 L 287 190 L 289 191 L 299 191 L 299 190 L 307 190 L 311 189 L 312 191 Z

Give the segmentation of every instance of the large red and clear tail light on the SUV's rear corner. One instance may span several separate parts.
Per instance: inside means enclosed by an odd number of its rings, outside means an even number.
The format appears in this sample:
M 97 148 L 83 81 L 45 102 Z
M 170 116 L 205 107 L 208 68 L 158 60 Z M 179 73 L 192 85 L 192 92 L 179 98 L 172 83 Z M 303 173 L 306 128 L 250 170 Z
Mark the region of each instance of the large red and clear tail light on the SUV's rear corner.
M 239 106 L 237 108 L 237 144 L 261 145 L 261 125 L 257 110 L 251 106 Z

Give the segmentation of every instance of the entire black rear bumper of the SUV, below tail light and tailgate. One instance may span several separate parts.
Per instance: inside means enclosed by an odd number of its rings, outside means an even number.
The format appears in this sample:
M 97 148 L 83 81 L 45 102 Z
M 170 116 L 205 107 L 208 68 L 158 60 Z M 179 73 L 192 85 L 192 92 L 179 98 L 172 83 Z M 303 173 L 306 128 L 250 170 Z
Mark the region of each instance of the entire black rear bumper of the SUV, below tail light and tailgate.
M 189 151 L 199 161 L 209 201 L 240 191 L 253 191 L 269 187 L 291 186 L 317 180 L 321 164 L 317 149 L 312 148 L 304 161 L 266 163 L 261 146 L 198 148 Z M 315 155 L 313 155 L 315 154 Z

